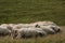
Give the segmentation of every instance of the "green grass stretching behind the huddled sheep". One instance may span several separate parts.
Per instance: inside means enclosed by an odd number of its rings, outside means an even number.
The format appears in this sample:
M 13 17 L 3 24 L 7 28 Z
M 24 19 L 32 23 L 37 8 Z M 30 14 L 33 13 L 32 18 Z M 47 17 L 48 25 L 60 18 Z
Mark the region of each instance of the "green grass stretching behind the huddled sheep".
M 0 24 L 52 20 L 65 25 L 65 0 L 0 0 Z

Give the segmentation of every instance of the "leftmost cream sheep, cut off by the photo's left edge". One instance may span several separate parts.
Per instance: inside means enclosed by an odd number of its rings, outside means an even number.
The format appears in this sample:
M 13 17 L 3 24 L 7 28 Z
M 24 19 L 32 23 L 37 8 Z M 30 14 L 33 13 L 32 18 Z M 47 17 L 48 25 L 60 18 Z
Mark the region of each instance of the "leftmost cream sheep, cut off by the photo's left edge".
M 2 35 L 10 35 L 11 34 L 11 30 L 14 24 L 1 24 L 0 25 L 0 34 Z M 11 30 L 10 30 L 11 29 Z

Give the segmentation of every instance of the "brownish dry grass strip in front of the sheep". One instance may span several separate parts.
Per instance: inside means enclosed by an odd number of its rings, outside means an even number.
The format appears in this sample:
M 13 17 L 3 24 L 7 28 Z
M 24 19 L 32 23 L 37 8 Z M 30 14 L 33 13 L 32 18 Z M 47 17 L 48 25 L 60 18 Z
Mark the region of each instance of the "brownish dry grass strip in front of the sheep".
M 65 27 L 61 27 L 62 32 L 42 38 L 12 39 L 11 37 L 0 37 L 0 43 L 65 43 Z

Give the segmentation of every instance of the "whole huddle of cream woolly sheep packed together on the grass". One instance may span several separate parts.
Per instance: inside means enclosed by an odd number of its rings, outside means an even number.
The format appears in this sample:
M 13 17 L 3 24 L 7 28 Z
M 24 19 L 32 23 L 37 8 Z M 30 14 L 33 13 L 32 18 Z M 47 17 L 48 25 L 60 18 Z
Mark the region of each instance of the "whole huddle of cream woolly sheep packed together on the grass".
M 2 24 L 0 35 L 11 34 L 13 39 L 37 38 L 47 34 L 54 34 L 61 28 L 53 22 L 36 22 L 31 24 Z

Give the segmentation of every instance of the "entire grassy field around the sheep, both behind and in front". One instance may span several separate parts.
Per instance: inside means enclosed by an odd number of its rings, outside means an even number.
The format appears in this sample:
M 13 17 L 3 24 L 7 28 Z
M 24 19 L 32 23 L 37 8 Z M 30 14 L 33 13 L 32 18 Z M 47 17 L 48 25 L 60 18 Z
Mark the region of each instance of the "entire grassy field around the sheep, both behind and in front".
M 0 0 L 0 24 L 42 20 L 65 26 L 65 0 Z M 61 33 L 37 39 L 0 37 L 0 43 L 65 43 L 65 27 Z

